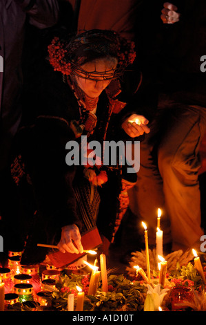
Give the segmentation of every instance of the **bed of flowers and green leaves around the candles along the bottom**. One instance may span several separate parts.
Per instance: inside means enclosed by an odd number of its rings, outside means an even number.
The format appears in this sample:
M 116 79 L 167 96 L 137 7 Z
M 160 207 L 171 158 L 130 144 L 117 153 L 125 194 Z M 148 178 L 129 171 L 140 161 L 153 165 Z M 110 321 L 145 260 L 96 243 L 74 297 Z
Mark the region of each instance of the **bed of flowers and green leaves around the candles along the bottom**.
M 83 311 L 206 311 L 206 295 L 203 279 L 198 275 L 193 263 L 180 266 L 177 262 L 173 270 L 166 275 L 165 286 L 158 283 L 159 272 L 153 270 L 151 283 L 147 284 L 138 275 L 114 275 L 107 271 L 107 293 L 102 290 L 101 277 L 95 295 L 88 295 L 90 274 L 68 275 L 61 271 L 54 288 L 48 288 L 48 310 L 67 311 L 68 295 L 78 294 L 76 286 L 85 293 Z M 8 310 L 21 310 L 19 304 L 8 306 Z

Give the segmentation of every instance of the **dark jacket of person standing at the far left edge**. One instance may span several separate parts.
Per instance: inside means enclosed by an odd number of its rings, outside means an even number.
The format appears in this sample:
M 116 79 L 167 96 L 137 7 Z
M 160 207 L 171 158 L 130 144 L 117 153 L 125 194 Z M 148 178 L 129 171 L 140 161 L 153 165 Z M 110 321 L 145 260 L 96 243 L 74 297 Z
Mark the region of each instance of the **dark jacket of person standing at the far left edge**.
M 22 53 L 26 26 L 43 29 L 57 23 L 57 0 L 0 1 L 0 171 L 8 160 L 10 142 L 21 120 L 21 91 L 23 86 Z

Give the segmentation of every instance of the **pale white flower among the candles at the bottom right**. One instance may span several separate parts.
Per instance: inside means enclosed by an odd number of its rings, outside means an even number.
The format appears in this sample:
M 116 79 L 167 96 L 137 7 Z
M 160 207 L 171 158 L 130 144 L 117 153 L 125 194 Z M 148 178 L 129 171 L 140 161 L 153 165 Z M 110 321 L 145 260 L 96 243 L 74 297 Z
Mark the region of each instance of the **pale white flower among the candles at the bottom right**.
M 161 290 L 161 284 L 158 284 L 154 288 L 147 284 L 147 297 L 145 299 L 144 311 L 158 311 L 158 307 L 161 306 L 165 295 L 169 289 Z

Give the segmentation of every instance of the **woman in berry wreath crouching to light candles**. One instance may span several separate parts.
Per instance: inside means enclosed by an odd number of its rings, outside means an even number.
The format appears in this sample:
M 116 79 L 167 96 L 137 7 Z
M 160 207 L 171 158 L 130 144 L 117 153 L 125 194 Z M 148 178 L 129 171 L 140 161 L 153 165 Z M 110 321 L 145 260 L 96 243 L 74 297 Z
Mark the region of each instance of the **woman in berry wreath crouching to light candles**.
M 134 113 L 131 100 L 140 75 L 133 75 L 132 87 L 123 84 L 130 90 L 127 97 L 121 91 L 120 79 L 135 57 L 132 42 L 116 32 L 90 30 L 69 39 L 54 37 L 48 53 L 55 72 L 50 66 L 39 91 L 34 89 L 30 109 L 34 106 L 37 120 L 21 129 L 14 144 L 12 176 L 21 191 L 25 180 L 30 183 L 34 200 L 26 203 L 36 211 L 23 263 L 45 257 L 48 250 L 37 248 L 38 242 L 58 243 L 61 252 L 82 253 L 81 234 L 96 225 L 107 247 L 114 237 L 123 167 L 118 160 L 116 166 L 69 166 L 66 144 L 73 140 L 82 146 L 85 136 L 87 142 L 103 145 L 104 140 L 128 140 L 150 131 L 148 120 Z M 132 121 L 138 118 L 139 124 L 131 123 L 130 111 Z

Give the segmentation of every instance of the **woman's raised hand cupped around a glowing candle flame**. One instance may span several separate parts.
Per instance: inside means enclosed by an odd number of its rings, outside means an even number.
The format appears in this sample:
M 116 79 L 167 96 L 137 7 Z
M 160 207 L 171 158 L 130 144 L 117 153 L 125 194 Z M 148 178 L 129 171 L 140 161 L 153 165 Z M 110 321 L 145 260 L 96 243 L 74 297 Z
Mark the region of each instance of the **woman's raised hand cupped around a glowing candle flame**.
M 143 115 L 132 114 L 123 122 L 122 128 L 128 136 L 136 138 L 136 136 L 150 132 L 150 128 L 147 127 L 148 123 L 149 121 Z

